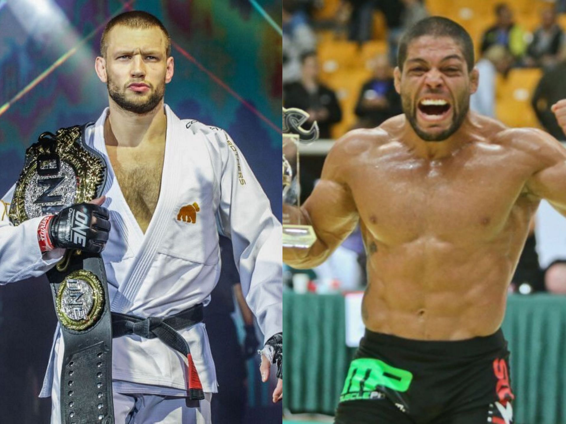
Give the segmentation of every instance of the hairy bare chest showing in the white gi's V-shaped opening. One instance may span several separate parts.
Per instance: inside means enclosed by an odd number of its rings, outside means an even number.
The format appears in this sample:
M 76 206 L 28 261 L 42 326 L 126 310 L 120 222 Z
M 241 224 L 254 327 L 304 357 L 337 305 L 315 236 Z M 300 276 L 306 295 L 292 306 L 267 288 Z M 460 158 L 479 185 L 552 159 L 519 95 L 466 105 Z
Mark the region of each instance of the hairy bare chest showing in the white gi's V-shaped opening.
M 143 232 L 149 226 L 159 198 L 164 147 L 163 144 L 143 149 L 108 149 L 122 194 Z

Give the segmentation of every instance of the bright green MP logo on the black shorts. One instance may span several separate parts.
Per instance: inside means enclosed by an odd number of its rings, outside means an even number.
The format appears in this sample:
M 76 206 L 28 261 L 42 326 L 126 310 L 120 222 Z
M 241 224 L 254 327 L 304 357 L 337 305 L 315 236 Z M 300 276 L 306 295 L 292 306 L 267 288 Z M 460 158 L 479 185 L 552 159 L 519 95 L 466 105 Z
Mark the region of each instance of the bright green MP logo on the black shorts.
M 379 359 L 359 358 L 350 364 L 340 401 L 381 398 L 379 387 L 406 392 L 411 380 L 413 374 L 407 370 L 387 365 Z

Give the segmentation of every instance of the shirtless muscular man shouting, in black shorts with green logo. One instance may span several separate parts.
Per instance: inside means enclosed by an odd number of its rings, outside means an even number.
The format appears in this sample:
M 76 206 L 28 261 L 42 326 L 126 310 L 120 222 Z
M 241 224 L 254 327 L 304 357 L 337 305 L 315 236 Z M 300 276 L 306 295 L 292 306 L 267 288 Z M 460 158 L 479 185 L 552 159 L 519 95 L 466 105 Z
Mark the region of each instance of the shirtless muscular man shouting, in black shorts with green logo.
M 366 334 L 337 424 L 510 424 L 507 287 L 539 202 L 566 214 L 566 150 L 469 111 L 479 75 L 453 21 L 415 24 L 398 64 L 404 114 L 336 142 L 305 204 L 284 211 L 318 239 L 284 261 L 319 265 L 361 225 Z

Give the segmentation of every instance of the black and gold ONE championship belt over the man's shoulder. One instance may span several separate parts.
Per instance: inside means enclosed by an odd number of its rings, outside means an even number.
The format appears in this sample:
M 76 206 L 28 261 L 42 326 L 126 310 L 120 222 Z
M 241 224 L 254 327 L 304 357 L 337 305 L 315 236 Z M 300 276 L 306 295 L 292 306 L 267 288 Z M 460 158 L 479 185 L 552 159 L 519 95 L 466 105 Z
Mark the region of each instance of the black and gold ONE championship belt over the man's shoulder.
M 85 144 L 87 125 L 44 132 L 26 150 L 10 209 L 12 224 L 101 196 L 106 163 Z M 112 321 L 102 258 L 67 250 L 47 276 L 65 343 L 62 423 L 113 424 Z

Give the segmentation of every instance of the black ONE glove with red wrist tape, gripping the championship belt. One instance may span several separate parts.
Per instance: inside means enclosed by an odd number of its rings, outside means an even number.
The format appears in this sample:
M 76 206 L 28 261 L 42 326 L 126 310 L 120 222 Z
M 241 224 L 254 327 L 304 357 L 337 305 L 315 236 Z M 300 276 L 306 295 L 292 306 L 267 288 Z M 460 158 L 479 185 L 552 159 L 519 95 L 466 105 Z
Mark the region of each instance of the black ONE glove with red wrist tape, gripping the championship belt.
M 41 252 L 63 248 L 100 253 L 109 232 L 108 209 L 80 203 L 44 217 L 37 228 L 37 239 Z

